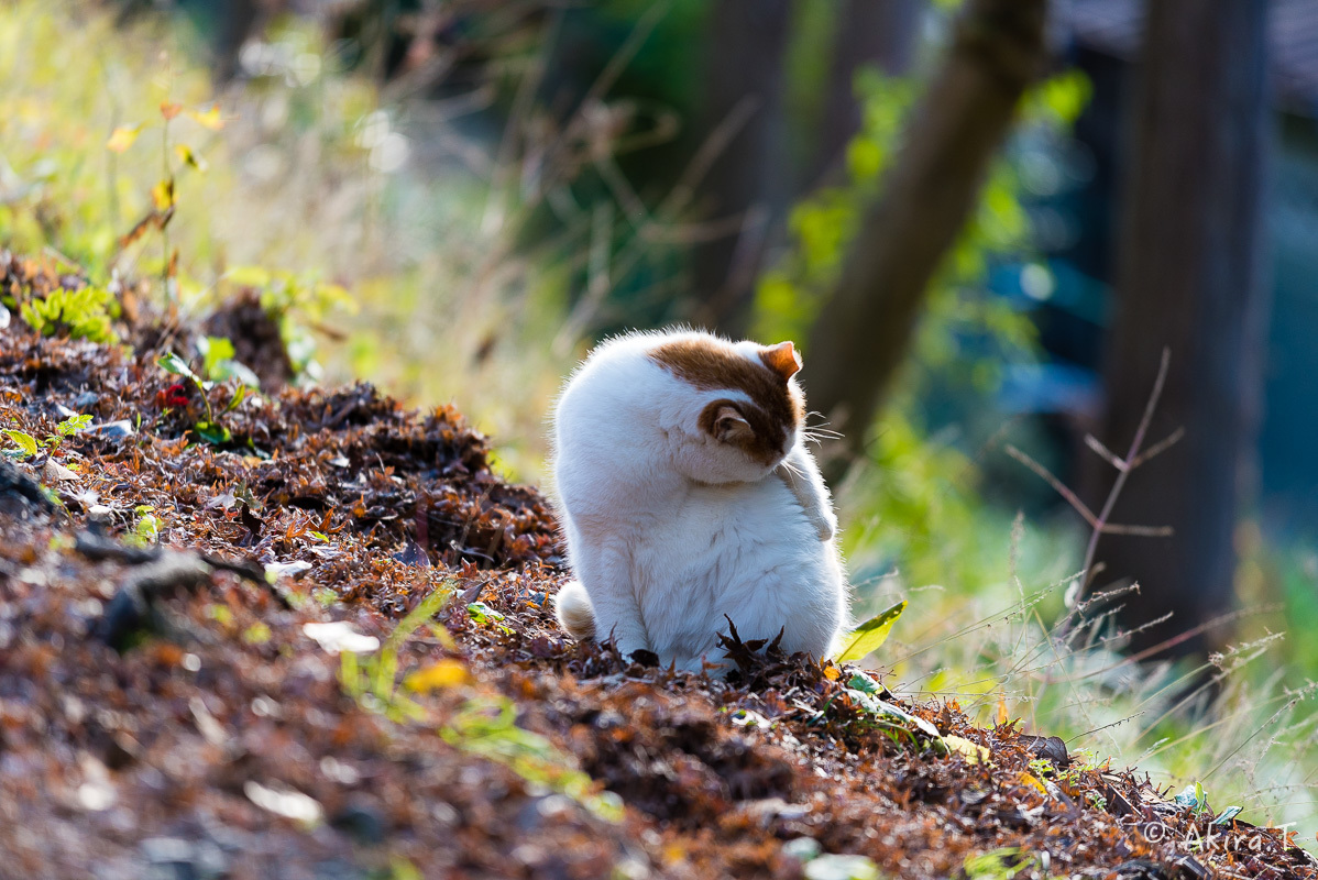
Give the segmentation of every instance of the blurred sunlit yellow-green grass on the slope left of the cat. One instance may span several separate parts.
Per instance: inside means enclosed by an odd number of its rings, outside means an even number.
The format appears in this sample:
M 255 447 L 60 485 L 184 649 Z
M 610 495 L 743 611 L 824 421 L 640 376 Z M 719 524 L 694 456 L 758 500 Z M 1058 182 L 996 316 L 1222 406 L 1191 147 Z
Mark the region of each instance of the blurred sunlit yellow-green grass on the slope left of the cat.
M 424 140 L 457 144 L 455 155 L 478 146 L 382 107 L 304 25 L 273 28 L 253 53 L 257 75 L 223 92 L 177 37 L 152 18 L 119 29 L 83 4 L 7 5 L 0 240 L 80 265 L 95 283 L 158 279 L 177 250 L 181 306 L 194 314 L 237 289 L 236 267 L 295 277 L 304 290 L 333 282 L 358 308 L 306 310 L 326 381 L 366 378 L 422 406 L 456 402 L 503 439 L 507 470 L 538 478 L 542 414 L 579 350 L 550 344 L 565 271 L 514 253 L 530 208 L 489 169 L 409 162 Z M 217 104 L 223 128 L 183 113 L 166 133 L 167 104 Z M 107 149 L 116 129 L 137 126 L 123 151 Z M 170 177 L 165 233 L 125 246 Z M 153 295 L 163 298 L 161 285 Z

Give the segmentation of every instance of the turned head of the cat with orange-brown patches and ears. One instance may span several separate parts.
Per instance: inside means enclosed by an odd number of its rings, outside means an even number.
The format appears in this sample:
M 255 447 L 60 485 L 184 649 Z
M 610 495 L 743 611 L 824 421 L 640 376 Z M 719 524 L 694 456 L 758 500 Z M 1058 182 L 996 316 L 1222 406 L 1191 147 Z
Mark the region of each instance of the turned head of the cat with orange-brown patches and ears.
M 796 444 L 805 398 L 793 378 L 801 358 L 791 343 L 734 344 L 692 333 L 660 343 L 648 357 L 689 389 L 670 441 L 693 480 L 760 480 Z

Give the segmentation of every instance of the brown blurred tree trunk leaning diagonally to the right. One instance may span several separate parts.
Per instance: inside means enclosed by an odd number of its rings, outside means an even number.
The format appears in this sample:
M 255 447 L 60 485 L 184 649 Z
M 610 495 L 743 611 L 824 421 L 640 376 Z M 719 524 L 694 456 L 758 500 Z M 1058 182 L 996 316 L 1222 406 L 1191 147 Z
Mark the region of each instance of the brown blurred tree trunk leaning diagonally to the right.
M 805 350 L 811 406 L 861 449 L 929 281 L 1046 58 L 1046 0 L 966 0 Z

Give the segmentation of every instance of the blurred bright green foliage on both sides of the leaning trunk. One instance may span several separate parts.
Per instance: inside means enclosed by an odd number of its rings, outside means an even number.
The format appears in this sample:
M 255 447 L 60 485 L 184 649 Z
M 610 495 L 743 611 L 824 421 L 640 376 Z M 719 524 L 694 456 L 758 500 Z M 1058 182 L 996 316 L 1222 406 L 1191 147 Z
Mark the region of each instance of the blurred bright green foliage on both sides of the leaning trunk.
M 863 123 L 847 146 L 846 180 L 811 195 L 792 212 L 793 248 L 759 285 L 758 339 L 808 336 L 862 212 L 879 194 L 920 83 L 865 71 L 855 87 Z M 1087 88 L 1078 72 L 1046 80 L 1027 99 L 1021 126 L 1066 130 L 1083 108 Z M 1006 365 L 1037 358 L 1029 316 L 986 286 L 994 262 L 1032 258 L 1020 191 L 1008 151 L 932 285 L 912 357 L 869 447 L 873 468 L 844 494 L 851 522 L 862 523 L 846 539 L 862 581 L 894 565 L 908 585 L 974 590 L 1002 581 L 1002 564 L 986 564 L 973 548 L 1006 547 L 1010 514 L 988 509 L 979 497 L 973 451 L 931 437 L 924 402 L 936 387 L 949 386 L 963 389 L 965 399 L 988 400 Z M 808 365 L 809 352 L 805 357 Z

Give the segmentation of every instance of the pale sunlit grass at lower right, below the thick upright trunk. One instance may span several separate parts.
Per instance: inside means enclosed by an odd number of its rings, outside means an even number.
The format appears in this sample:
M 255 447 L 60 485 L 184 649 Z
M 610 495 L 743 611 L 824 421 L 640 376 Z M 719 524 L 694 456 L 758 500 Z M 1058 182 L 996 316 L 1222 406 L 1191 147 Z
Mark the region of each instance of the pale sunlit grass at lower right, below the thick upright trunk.
M 909 599 L 875 659 L 890 671 L 888 686 L 954 700 L 987 726 L 1020 719 L 1073 751 L 1139 767 L 1172 793 L 1202 783 L 1215 810 L 1239 805 L 1256 825 L 1289 822 L 1297 842 L 1314 850 L 1318 685 L 1285 664 L 1296 635 L 1242 635 L 1199 665 L 1136 663 L 1118 651 L 1104 617 L 1094 615 L 1101 606 L 1087 609 L 1089 626 L 1078 626 L 1079 614 L 1066 615 L 1078 570 L 1053 581 L 1021 572 L 1046 569 L 1046 555 L 1037 555 L 1045 548 L 1062 549 L 1062 560 L 1078 556 L 1074 544 L 1070 552 L 1050 540 L 1031 548 L 1029 531 L 1017 528 L 987 569 L 999 580 L 974 591 L 907 582 L 900 572 L 866 588 L 873 593 L 862 598 L 873 595 L 875 606 Z M 1234 623 L 1248 634 L 1267 617 L 1247 609 Z

